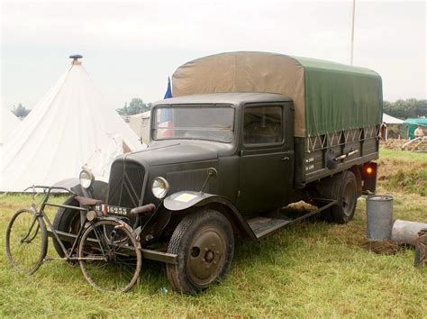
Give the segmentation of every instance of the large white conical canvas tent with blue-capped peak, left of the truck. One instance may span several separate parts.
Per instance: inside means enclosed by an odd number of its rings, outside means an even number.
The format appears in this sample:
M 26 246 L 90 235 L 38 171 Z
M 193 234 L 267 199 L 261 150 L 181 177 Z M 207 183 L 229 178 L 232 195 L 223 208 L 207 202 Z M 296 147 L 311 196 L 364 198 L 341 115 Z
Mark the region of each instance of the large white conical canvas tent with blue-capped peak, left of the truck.
M 145 148 L 114 109 L 106 107 L 75 58 L 4 145 L 1 191 L 78 178 L 82 167 L 107 180 L 124 151 Z

